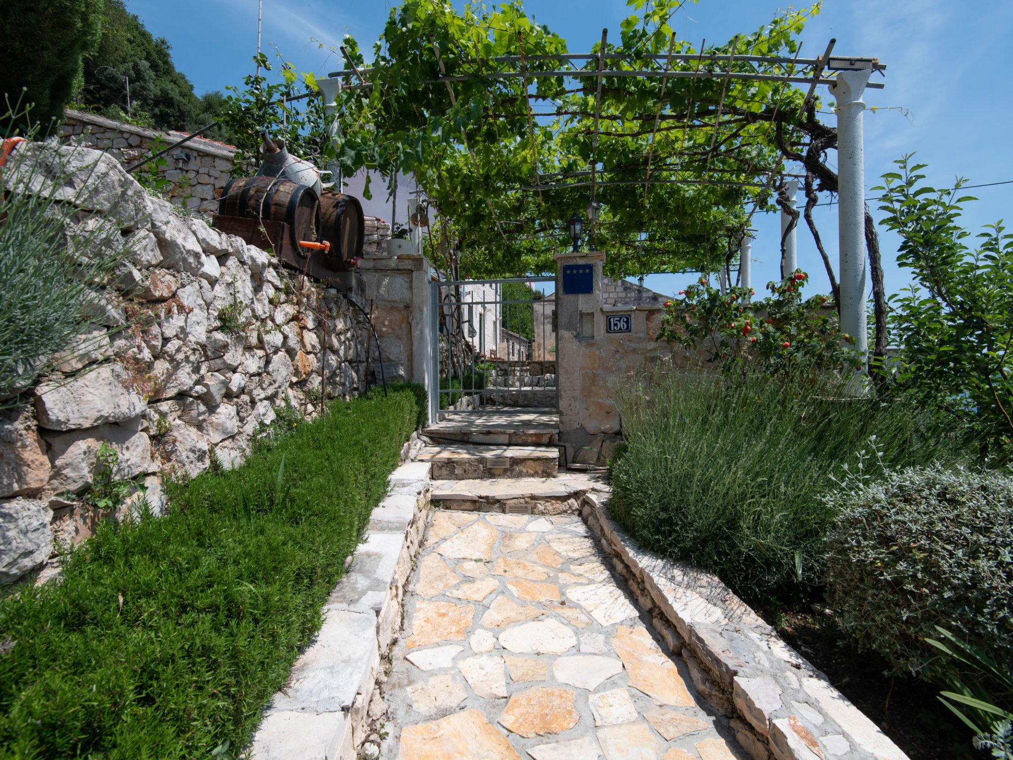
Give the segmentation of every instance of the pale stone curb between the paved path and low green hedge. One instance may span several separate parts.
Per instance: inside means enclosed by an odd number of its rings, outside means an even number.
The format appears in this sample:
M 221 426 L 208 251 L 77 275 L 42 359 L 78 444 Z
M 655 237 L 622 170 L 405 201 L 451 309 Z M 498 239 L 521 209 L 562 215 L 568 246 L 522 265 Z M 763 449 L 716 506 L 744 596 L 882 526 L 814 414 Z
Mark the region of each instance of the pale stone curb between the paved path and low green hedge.
M 405 583 L 425 532 L 430 465 L 406 462 L 388 485 L 327 598 L 319 633 L 264 710 L 252 760 L 356 760 L 366 740 L 380 658 L 400 628 Z

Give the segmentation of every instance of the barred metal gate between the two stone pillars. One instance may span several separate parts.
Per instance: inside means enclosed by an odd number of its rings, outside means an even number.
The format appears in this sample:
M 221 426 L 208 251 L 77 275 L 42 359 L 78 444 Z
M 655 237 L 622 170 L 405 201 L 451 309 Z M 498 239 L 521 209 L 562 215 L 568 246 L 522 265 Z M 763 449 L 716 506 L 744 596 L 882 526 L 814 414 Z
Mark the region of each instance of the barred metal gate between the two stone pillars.
M 448 412 L 555 411 L 553 277 L 430 283 L 430 420 Z

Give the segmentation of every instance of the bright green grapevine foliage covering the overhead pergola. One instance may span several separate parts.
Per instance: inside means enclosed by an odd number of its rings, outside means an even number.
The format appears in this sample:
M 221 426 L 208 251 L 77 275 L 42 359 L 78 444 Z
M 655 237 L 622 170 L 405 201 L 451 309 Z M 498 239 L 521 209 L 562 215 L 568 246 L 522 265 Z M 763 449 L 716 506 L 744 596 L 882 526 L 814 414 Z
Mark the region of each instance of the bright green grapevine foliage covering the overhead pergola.
M 630 70 L 660 66 L 645 56 L 669 49 L 671 17 L 682 4 L 629 0 L 634 14 L 623 21 L 619 41 L 608 46 L 609 53 L 620 57 L 616 65 Z M 779 14 L 753 32 L 705 51 L 682 40 L 675 40 L 672 50 L 700 54 L 706 67 L 726 65 L 716 62 L 732 49 L 790 57 L 803 23 L 816 12 L 819 4 Z M 346 35 L 343 48 L 357 68 L 366 66 L 356 40 Z M 687 268 L 717 271 L 728 257 L 734 231 L 746 223 L 745 209 L 754 201 L 768 208 L 771 199 L 770 188 L 735 182 L 763 184 L 769 172 L 782 167 L 769 129 L 771 113 L 798 112 L 802 92 L 783 82 L 756 79 L 606 79 L 600 111 L 608 128 L 596 140 L 593 79 L 582 79 L 586 86 L 574 92 L 565 76 L 533 76 L 528 82 L 532 94 L 567 115 L 530 122 L 521 78 L 481 76 L 481 62 L 495 56 L 523 55 L 527 72 L 544 74 L 557 70 L 559 63 L 539 57 L 567 52 L 566 42 L 537 23 L 520 2 L 469 3 L 456 9 L 443 0 L 406 0 L 391 9 L 373 48 L 368 76 L 376 86 L 362 88 L 345 80 L 349 86 L 338 93 L 335 121 L 324 119 L 318 97 L 296 104 L 288 100 L 315 94 L 316 84 L 284 59 L 281 81 L 251 76 L 242 89 L 232 91 L 227 120 L 246 155 L 255 151 L 259 133 L 267 132 L 284 136 L 295 153 L 322 162 L 333 159 L 345 176 L 363 167 L 379 170 L 389 182 L 398 172 L 412 174 L 436 212 L 427 253 L 440 267 L 453 268 L 462 277 L 523 275 L 555 270 L 552 256 L 568 242 L 565 220 L 591 200 L 587 186 L 517 192 L 536 174 L 552 181 L 595 163 L 603 175 L 623 180 L 642 176 L 648 151 L 655 165 L 666 162 L 671 168 L 674 157 L 700 156 L 708 149 L 709 129 L 665 127 L 651 135 L 645 128 L 654 118 L 664 81 L 665 117 L 707 119 L 720 100 L 722 112 L 742 118 L 731 134 L 722 136 L 721 154 L 707 161 L 727 181 L 652 184 L 642 194 L 601 185 L 596 198 L 603 205 L 602 216 L 589 230 L 589 245 L 608 253 L 610 276 Z M 266 56 L 260 64 L 266 70 Z M 748 61 L 736 60 L 732 66 L 760 73 Z M 442 70 L 464 77 L 453 82 L 454 103 L 441 81 Z M 279 102 L 283 96 L 287 101 Z M 749 155 L 746 165 L 732 155 L 738 148 Z M 680 168 L 692 174 L 702 166 L 691 159 Z M 442 241 L 439 249 L 437 240 Z

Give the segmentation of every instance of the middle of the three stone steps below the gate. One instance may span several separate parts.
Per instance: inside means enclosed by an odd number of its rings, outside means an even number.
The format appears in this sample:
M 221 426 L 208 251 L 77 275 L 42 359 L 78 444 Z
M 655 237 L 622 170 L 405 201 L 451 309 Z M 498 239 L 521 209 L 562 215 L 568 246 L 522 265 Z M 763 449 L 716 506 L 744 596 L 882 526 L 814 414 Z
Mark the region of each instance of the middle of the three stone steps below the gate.
M 418 460 L 433 465 L 432 477 L 436 480 L 555 477 L 559 469 L 559 450 L 540 446 L 446 443 L 422 449 Z

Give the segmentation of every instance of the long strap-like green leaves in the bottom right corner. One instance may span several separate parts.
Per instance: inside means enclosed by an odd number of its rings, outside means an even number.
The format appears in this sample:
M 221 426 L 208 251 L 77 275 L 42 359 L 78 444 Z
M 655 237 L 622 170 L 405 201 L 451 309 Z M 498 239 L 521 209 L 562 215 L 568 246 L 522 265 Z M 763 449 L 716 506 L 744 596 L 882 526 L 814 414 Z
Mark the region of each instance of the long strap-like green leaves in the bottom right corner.
M 939 701 L 975 732 L 975 749 L 991 750 L 992 757 L 999 760 L 1013 760 L 1013 712 L 1008 709 L 1013 707 L 1013 675 L 1009 663 L 1000 666 L 946 628 L 937 625 L 936 630 L 945 641 L 928 638 L 926 643 L 946 655 L 952 669 L 946 678 L 951 691 L 942 692 Z M 963 676 L 964 671 L 970 676 Z

